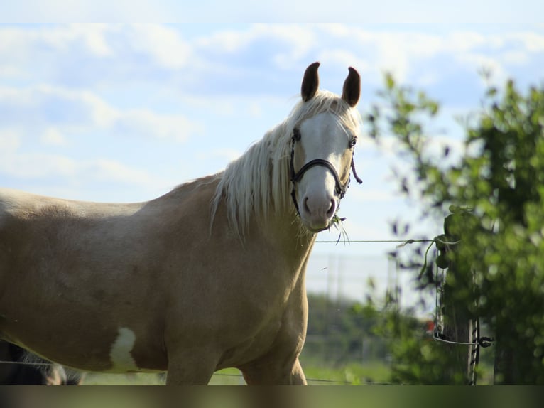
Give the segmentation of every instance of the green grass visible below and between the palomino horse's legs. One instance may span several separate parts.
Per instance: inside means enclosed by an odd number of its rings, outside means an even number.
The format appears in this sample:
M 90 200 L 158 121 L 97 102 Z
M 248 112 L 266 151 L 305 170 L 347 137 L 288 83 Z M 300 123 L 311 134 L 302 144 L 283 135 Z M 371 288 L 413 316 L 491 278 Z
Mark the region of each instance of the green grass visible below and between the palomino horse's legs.
M 304 372 L 309 385 L 359 385 L 387 382 L 389 370 L 383 363 L 352 363 L 344 367 L 305 365 Z M 164 376 L 157 374 L 98 374 L 89 373 L 84 385 L 162 385 Z M 227 368 L 214 374 L 210 385 L 244 385 L 236 368 Z

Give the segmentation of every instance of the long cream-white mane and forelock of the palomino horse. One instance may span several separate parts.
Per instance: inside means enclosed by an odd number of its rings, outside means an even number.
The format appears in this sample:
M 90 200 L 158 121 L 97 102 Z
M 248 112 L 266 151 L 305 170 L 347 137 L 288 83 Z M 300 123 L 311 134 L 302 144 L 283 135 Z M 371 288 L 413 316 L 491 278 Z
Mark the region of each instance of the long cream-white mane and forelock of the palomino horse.
M 212 199 L 212 222 L 223 199 L 229 223 L 240 237 L 244 236 L 251 215 L 265 220 L 272 211 L 286 208 L 292 208 L 294 215 L 289 195 L 291 134 L 300 122 L 322 112 L 337 115 L 343 127 L 353 134 L 359 133 L 359 112 L 338 95 L 318 91 L 308 102 L 298 102 L 281 124 L 267 131 L 260 141 L 219 173 L 220 181 Z

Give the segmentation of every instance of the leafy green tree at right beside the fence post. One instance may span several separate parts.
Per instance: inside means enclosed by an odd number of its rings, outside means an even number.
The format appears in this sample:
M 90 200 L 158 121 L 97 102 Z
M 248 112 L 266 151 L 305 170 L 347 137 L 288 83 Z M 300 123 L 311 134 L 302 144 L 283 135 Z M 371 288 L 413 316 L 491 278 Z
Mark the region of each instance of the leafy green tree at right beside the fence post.
M 455 279 L 448 284 L 496 335 L 495 382 L 544 384 L 544 89 L 523 93 L 511 80 L 500 90 L 489 86 L 464 125 L 464 151 L 456 160 L 447 147 L 430 154 L 433 138 L 425 129 L 437 102 L 391 76 L 380 97 L 367 123 L 377 139 L 391 134 L 401 146 L 412 168 L 411 177 L 398 177 L 401 191 L 418 200 L 426 217 L 443 219 L 452 205 L 473 215 L 449 227 L 463 242 L 455 251 L 460 269 L 474 274 L 477 289 L 456 287 Z M 418 262 L 421 249 L 412 257 Z M 428 274 L 420 278 L 422 290 L 433 288 Z M 420 354 L 403 357 L 420 364 Z

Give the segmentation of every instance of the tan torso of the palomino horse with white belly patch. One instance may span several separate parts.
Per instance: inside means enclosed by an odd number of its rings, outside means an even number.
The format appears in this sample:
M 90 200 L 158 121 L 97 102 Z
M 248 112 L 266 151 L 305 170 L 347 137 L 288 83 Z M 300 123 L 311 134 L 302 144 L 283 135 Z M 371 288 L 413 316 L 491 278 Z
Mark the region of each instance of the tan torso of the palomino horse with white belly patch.
M 255 228 L 242 245 L 217 222 L 222 208 L 210 239 L 216 187 L 208 178 L 137 205 L 2 190 L 3 202 L 11 200 L 0 234 L 2 332 L 88 371 L 172 375 L 175 359 L 188 379 L 256 358 L 280 334 L 285 309 L 305 321 L 305 310 L 286 303 L 304 297 L 298 275 L 310 242 L 293 250 L 285 243 L 298 231 L 278 231 L 285 240 L 271 242 Z M 173 354 L 170 344 L 183 347 Z

